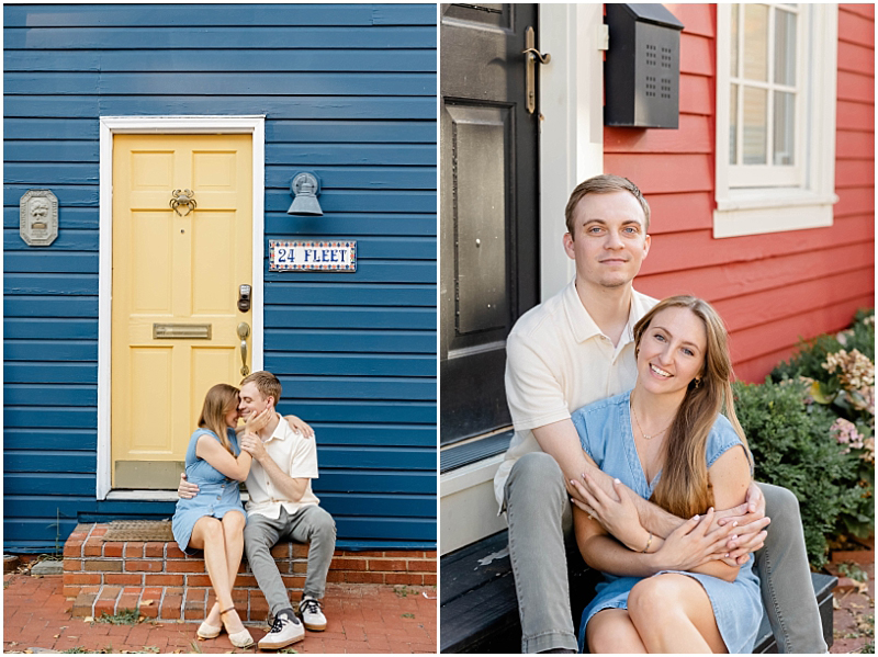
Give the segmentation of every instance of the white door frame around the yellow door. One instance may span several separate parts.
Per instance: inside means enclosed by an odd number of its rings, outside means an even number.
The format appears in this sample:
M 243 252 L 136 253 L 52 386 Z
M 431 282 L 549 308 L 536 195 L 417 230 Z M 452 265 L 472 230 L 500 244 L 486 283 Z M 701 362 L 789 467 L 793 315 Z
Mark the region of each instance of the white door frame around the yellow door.
M 264 237 L 266 116 L 101 116 L 100 117 L 100 257 L 98 269 L 98 471 L 97 498 L 177 499 L 161 490 L 111 492 L 110 438 L 112 401 L 111 324 L 113 293 L 113 135 L 252 135 L 252 370 L 262 369 L 262 240 Z

